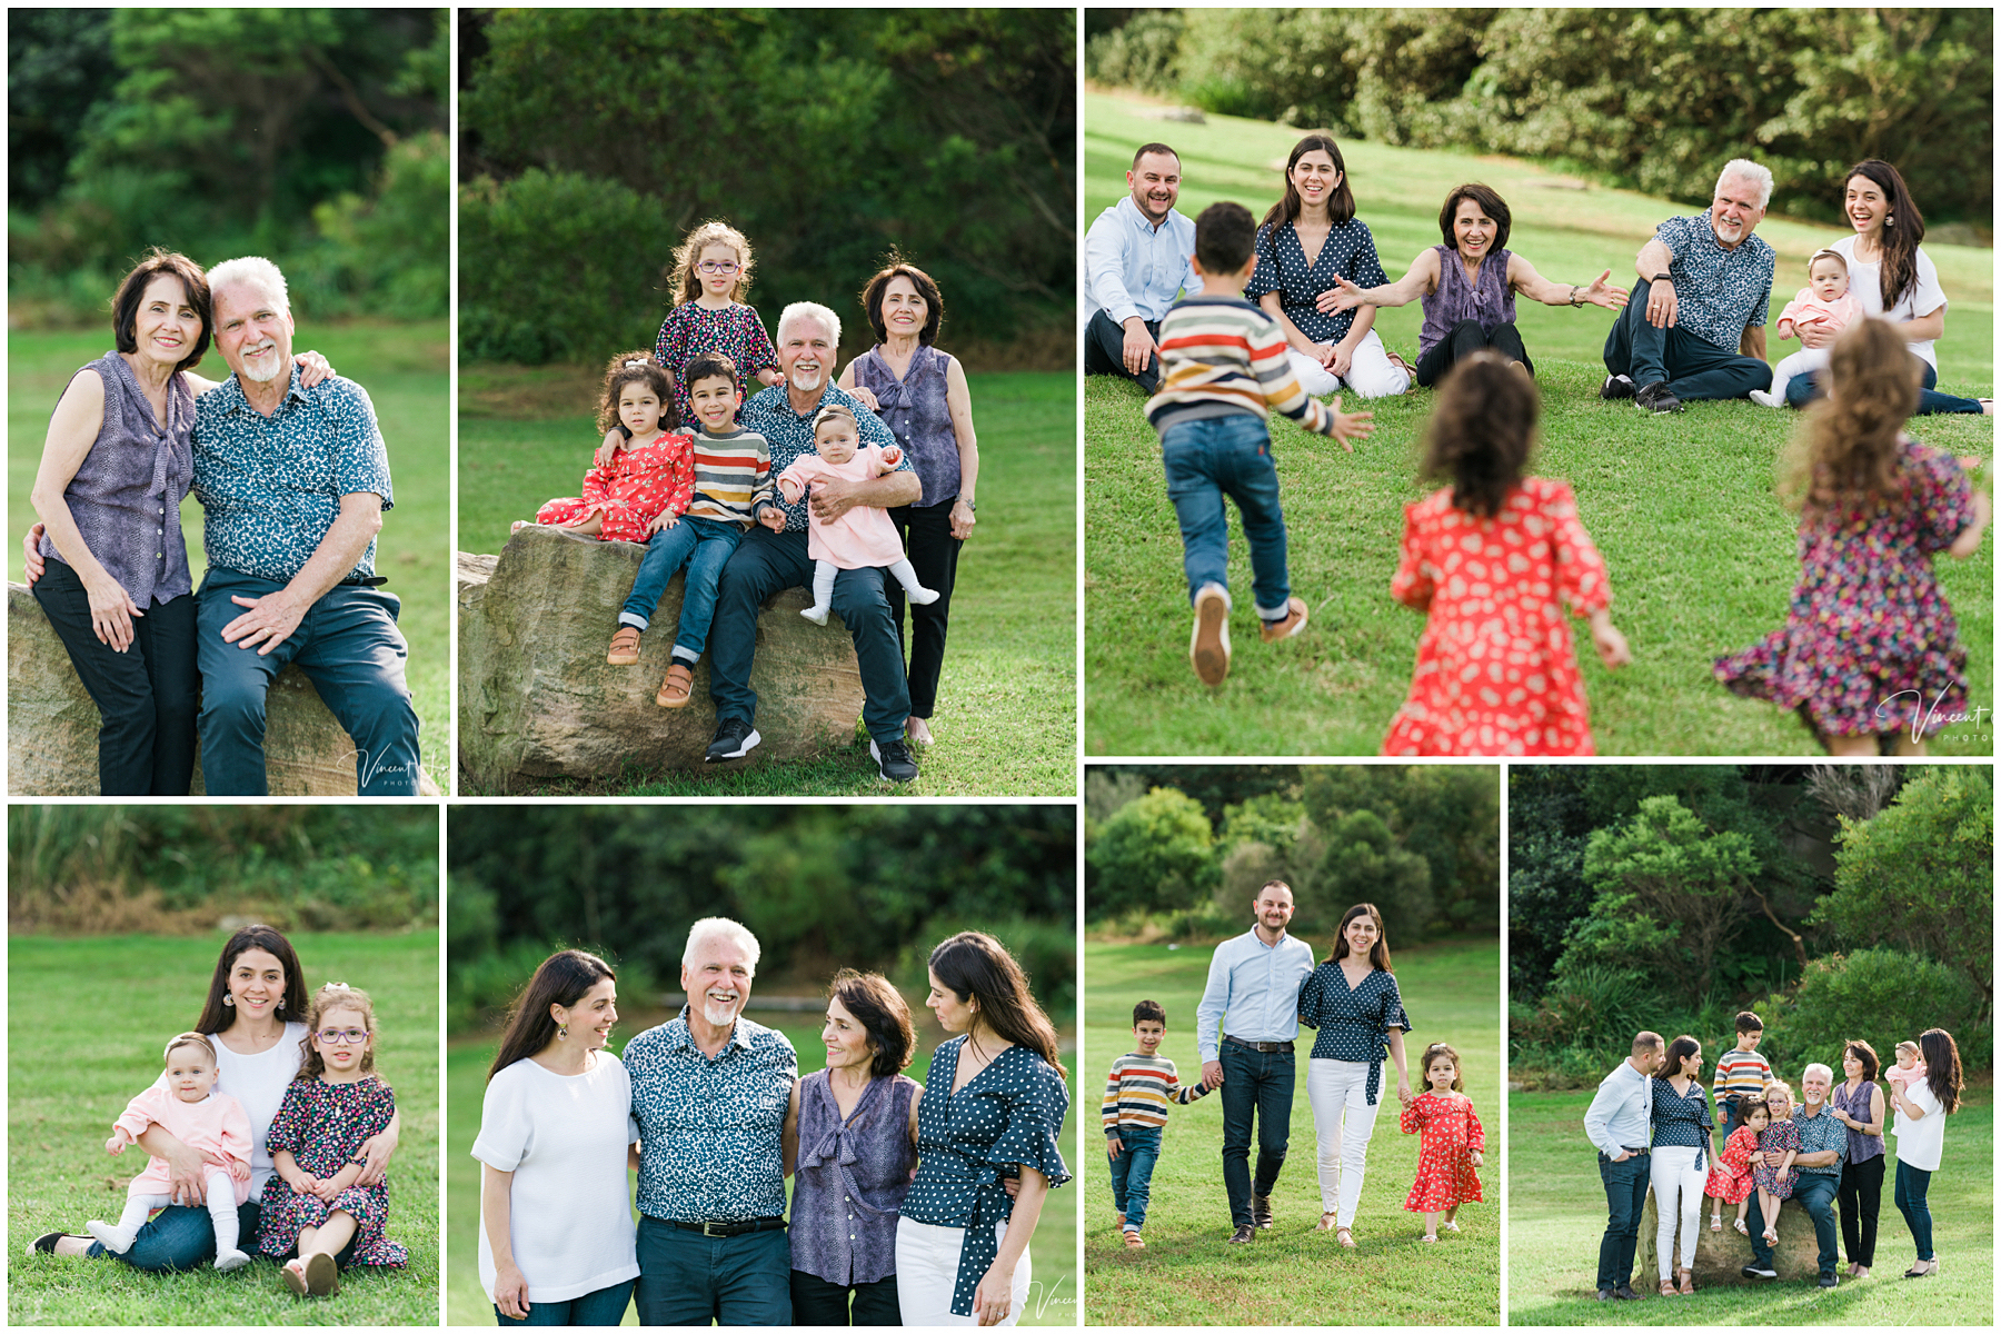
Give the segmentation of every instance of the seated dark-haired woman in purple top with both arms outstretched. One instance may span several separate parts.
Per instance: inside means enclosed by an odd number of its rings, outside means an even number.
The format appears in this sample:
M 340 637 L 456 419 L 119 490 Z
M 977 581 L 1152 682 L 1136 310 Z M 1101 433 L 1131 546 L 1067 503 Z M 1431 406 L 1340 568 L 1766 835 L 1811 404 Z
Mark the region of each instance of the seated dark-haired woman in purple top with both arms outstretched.
M 1513 214 L 1507 200 L 1483 184 L 1465 184 L 1445 196 L 1439 236 L 1445 244 L 1411 260 L 1411 272 L 1381 288 L 1359 288 L 1335 276 L 1321 296 L 1323 310 L 1357 306 L 1425 306 L 1425 326 L 1417 334 L 1417 382 L 1433 386 L 1445 372 L 1481 348 L 1493 348 L 1535 376 L 1535 362 L 1515 328 L 1515 294 L 1545 306 L 1625 306 L 1627 290 L 1611 286 L 1605 270 L 1587 286 L 1551 282 L 1535 264 L 1507 248 Z

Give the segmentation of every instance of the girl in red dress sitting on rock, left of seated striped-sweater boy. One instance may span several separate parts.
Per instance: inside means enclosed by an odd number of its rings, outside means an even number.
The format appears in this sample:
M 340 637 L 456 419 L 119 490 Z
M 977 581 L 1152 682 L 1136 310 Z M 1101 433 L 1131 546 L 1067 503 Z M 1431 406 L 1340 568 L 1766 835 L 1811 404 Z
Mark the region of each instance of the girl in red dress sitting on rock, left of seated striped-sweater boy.
M 592 464 L 584 494 L 550 500 L 534 522 L 600 542 L 644 542 L 670 526 L 694 496 L 694 436 L 674 430 L 672 394 L 650 352 L 606 362 L 598 430 L 608 432 L 610 462 Z

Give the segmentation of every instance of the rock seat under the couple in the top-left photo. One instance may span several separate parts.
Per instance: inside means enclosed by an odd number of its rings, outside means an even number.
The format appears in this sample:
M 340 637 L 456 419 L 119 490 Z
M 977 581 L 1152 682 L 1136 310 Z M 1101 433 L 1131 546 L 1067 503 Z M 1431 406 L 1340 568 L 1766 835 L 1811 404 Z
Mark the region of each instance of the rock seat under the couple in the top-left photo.
M 24 584 L 6 586 L 6 630 L 8 792 L 98 796 L 98 706 Z M 296 666 L 266 698 L 264 760 L 272 796 L 354 796 L 354 740 Z M 438 794 L 430 778 L 422 790 Z M 192 796 L 206 796 L 200 760 Z

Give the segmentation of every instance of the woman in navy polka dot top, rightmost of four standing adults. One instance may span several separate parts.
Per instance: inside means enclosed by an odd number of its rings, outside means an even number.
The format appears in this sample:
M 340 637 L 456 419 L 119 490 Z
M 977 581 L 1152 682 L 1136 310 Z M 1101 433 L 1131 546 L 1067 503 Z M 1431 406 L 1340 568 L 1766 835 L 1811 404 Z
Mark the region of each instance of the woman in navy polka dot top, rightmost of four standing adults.
M 1059 1138 L 1071 1094 L 1057 1028 L 1021 964 L 992 936 L 958 932 L 930 952 L 938 1046 L 916 1108 L 916 1180 L 896 1222 L 904 1324 L 1019 1324 L 1029 1242 L 1067 1180 Z M 1007 1178 L 1021 1178 L 1009 1198 Z

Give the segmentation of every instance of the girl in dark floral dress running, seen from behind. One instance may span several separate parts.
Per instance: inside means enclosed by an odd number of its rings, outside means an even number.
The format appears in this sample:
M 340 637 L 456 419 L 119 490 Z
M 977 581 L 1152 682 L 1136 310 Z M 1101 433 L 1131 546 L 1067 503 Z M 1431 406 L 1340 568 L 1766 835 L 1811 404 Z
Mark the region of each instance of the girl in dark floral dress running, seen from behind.
M 1965 560 L 1993 516 L 1967 462 L 1903 422 L 1917 362 L 1883 320 L 1857 320 L 1829 358 L 1831 390 L 1803 424 L 1781 494 L 1799 504 L 1799 584 L 1785 628 L 1717 658 L 1733 692 L 1799 710 L 1837 756 L 1897 754 L 1967 714 L 1967 650 L 1931 558 Z M 1909 726 L 1899 720 L 1909 718 Z

